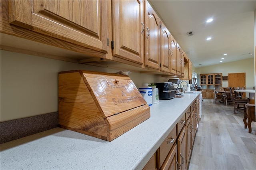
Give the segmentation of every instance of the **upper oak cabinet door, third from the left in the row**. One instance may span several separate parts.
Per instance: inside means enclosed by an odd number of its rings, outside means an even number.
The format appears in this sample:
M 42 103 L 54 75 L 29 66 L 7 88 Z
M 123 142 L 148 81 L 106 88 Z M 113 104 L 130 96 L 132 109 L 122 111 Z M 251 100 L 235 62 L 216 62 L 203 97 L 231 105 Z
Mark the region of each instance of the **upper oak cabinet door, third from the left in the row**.
M 145 1 L 145 66 L 160 69 L 160 18 Z

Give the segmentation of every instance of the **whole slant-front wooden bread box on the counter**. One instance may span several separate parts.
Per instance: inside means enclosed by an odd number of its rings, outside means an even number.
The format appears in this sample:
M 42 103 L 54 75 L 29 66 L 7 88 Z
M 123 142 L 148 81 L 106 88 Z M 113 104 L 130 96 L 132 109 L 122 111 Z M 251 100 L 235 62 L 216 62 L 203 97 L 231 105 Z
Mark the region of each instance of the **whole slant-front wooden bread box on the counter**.
M 150 118 L 150 107 L 128 75 L 62 71 L 58 75 L 58 124 L 112 141 Z

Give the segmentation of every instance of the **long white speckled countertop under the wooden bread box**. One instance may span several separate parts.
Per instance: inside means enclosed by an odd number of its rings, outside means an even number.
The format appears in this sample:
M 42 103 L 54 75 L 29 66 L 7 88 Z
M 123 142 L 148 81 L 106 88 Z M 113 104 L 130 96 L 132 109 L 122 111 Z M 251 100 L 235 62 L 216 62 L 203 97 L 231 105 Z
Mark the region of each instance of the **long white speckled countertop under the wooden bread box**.
M 111 142 L 63 128 L 6 142 L 0 169 L 142 169 L 200 93 L 160 100 L 150 119 Z

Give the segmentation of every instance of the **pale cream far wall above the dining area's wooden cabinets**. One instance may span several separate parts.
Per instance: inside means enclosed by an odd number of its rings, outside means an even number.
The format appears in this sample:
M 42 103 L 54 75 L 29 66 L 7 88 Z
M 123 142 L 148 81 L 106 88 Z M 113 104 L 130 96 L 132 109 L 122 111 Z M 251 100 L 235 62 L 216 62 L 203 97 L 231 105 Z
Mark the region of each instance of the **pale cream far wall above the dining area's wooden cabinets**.
M 252 89 L 254 86 L 254 58 L 198 67 L 196 68 L 196 73 L 198 80 L 200 80 L 200 74 L 222 73 L 222 76 L 228 76 L 228 73 L 246 73 L 246 89 Z M 200 81 L 198 82 L 200 84 Z M 222 81 L 222 87 L 228 87 L 228 81 Z

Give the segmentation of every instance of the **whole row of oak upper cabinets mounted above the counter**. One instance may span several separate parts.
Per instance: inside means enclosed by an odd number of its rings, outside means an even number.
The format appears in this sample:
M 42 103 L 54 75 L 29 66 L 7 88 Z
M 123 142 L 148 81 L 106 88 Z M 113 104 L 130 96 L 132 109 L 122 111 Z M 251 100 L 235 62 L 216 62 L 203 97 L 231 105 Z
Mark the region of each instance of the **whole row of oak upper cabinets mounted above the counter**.
M 2 50 L 184 76 L 181 47 L 147 0 L 2 0 L 0 8 Z

